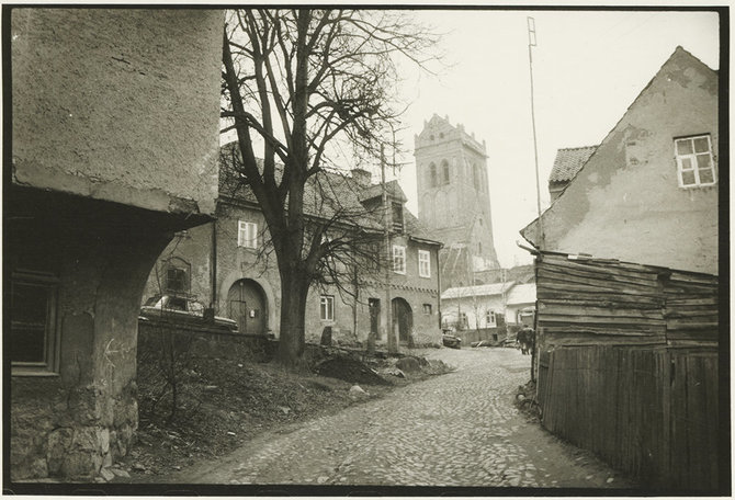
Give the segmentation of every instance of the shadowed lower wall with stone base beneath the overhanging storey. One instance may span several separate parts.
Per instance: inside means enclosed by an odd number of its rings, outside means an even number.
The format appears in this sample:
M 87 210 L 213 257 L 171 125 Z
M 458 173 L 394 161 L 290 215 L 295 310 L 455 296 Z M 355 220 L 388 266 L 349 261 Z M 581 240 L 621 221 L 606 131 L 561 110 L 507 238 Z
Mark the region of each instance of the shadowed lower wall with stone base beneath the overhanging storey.
M 46 214 L 24 220 L 8 241 L 10 272 L 44 266 L 58 276 L 53 370 L 12 368 L 12 479 L 94 477 L 127 453 L 137 429 L 139 297 L 168 239 L 145 226 L 121 230 L 112 213 L 89 208 L 117 230 L 90 232 L 81 216 L 70 226 Z M 36 264 L 26 253 L 37 248 L 44 262 Z

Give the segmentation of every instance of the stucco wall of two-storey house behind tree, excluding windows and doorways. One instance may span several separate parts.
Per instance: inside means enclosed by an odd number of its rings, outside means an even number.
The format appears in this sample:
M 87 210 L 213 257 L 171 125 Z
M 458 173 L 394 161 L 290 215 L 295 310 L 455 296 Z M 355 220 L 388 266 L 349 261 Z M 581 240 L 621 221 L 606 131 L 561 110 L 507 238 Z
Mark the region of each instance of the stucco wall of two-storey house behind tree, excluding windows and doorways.
M 211 296 L 211 252 L 212 224 L 216 225 L 217 232 L 217 300 L 215 312 L 227 316 L 227 293 L 230 287 L 242 279 L 252 280 L 262 288 L 268 303 L 267 331 L 276 338 L 280 336 L 281 314 L 281 281 L 276 266 L 275 254 L 261 254 L 261 249 L 249 249 L 237 246 L 238 220 L 258 224 L 261 237 L 264 225 L 262 213 L 256 208 L 242 205 L 220 203 L 217 208 L 217 220 L 204 226 L 192 228 L 186 236 L 174 239 L 161 253 L 157 266 L 162 269 L 162 261 L 176 255 L 191 264 L 191 293 L 201 302 L 207 304 Z M 268 238 L 268 232 L 264 234 Z M 259 239 L 259 246 L 262 238 Z M 406 246 L 406 275 L 391 273 L 391 297 L 402 297 L 410 306 L 414 319 L 414 338 L 417 343 L 440 342 L 439 329 L 439 299 L 437 294 L 437 247 L 409 240 L 405 236 L 395 238 L 396 245 Z M 418 250 L 430 250 L 430 277 L 418 276 Z M 259 260 L 260 259 L 260 260 Z M 380 274 L 383 279 L 383 273 Z M 146 284 L 147 296 L 158 293 L 156 271 L 151 271 Z M 321 320 L 319 311 L 320 295 L 335 297 L 335 319 Z M 207 300 L 204 298 L 207 297 Z M 361 287 L 360 296 L 355 300 L 349 295 L 340 294 L 337 287 L 319 288 L 316 285 L 309 291 L 306 305 L 306 340 L 318 342 L 325 327 L 332 327 L 332 338 L 340 342 L 365 342 L 370 332 L 369 298 L 381 300 L 380 340 L 378 344 L 386 343 L 386 304 L 385 288 L 375 282 Z M 423 304 L 431 305 L 431 314 L 423 314 Z M 354 305 L 354 310 L 353 310 Z M 357 315 L 357 330 L 354 326 Z

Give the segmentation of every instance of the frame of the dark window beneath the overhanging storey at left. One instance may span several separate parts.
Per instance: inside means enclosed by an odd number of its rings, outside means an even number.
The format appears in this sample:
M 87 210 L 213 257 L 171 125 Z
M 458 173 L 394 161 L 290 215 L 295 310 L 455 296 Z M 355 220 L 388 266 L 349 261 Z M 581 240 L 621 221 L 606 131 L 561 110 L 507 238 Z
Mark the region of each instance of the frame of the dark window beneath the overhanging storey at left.
M 12 376 L 57 376 L 59 375 L 59 323 L 58 323 L 58 288 L 59 279 L 47 273 L 15 271 L 11 273 L 10 292 L 10 332 L 13 330 L 13 288 L 16 285 L 37 286 L 46 289 L 46 317 L 44 326 L 43 361 L 14 361 L 12 346 L 10 348 L 10 364 Z

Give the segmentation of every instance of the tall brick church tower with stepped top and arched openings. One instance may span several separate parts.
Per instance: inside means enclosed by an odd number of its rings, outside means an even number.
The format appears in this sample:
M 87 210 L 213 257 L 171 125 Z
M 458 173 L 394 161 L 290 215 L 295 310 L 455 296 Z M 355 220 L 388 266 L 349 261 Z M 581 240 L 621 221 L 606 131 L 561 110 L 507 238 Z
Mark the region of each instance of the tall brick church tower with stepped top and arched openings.
M 478 143 L 462 124 L 434 114 L 414 136 L 419 220 L 439 254 L 442 291 L 482 284 L 483 271 L 498 269 L 493 242 L 485 140 Z

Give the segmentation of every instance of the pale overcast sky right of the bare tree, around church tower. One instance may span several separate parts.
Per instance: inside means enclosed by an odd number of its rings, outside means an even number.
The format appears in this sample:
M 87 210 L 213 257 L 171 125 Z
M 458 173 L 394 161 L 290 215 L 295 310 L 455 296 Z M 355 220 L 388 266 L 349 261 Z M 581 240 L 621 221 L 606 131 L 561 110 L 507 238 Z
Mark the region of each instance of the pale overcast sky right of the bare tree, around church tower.
M 417 11 L 446 33 L 453 67 L 439 78 L 406 73 L 400 92 L 411 105 L 402 141 L 410 151 L 398 180 L 417 208 L 414 134 L 432 113 L 449 115 L 487 141 L 495 246 L 504 266 L 530 263 L 516 246 L 536 216 L 527 16 L 533 48 L 542 209 L 558 148 L 599 144 L 680 45 L 719 69 L 714 13 L 573 11 Z

